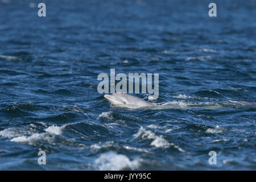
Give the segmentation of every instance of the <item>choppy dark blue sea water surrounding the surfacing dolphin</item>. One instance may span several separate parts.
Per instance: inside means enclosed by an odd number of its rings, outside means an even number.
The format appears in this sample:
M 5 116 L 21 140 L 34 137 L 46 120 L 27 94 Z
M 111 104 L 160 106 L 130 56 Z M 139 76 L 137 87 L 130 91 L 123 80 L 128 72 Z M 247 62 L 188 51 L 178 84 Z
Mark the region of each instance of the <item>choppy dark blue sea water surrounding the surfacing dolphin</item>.
M 1 0 L 0 169 L 256 169 L 256 1 L 210 2 Z M 113 109 L 112 68 L 173 107 Z

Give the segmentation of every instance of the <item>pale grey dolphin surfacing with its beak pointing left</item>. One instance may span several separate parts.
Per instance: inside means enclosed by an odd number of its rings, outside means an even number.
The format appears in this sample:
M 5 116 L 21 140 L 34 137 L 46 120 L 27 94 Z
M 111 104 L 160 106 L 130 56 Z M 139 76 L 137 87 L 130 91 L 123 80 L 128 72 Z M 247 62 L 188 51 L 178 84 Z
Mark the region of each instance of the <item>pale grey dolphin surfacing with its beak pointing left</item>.
M 113 93 L 112 95 L 105 94 L 104 97 L 114 107 L 139 108 L 153 106 L 150 102 L 146 102 L 139 97 L 131 96 L 126 93 Z

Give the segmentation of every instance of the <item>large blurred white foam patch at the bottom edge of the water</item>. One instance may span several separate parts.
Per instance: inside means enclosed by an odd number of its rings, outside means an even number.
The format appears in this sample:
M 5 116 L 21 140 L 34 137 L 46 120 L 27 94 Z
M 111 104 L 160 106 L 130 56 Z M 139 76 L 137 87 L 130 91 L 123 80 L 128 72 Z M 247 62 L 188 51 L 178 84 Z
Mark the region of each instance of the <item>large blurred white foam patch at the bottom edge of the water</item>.
M 116 152 L 106 152 L 95 160 L 95 164 L 101 171 L 117 171 L 125 168 L 134 170 L 140 166 L 139 159 L 130 160 L 126 155 Z

